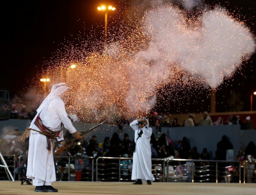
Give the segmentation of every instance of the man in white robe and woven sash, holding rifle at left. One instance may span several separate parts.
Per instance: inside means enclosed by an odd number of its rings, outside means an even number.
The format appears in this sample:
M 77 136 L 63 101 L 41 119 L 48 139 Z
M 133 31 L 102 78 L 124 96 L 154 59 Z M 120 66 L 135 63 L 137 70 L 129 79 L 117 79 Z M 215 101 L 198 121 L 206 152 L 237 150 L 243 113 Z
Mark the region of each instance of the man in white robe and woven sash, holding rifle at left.
M 76 139 L 82 138 L 65 110 L 62 98 L 65 98 L 67 89 L 69 87 L 65 83 L 53 85 L 50 94 L 39 106 L 35 118 L 26 130 L 27 136 L 30 137 L 26 175 L 28 179 L 33 180 L 36 192 L 58 192 L 58 189 L 51 186 L 51 183 L 56 181 L 53 159 L 54 139 L 49 138 L 48 134 L 53 134 L 57 141 L 64 140 L 62 130 L 64 126 Z M 61 143 L 62 146 L 64 143 L 64 141 Z

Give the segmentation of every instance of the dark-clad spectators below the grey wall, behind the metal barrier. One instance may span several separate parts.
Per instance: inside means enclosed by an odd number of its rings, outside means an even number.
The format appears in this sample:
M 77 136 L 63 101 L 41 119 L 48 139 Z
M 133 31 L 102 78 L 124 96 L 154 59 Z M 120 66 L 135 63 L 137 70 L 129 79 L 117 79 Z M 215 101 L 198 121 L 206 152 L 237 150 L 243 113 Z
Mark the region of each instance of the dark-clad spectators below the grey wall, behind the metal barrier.
M 15 156 L 26 156 L 26 151 L 28 150 L 28 140 L 27 142 L 20 142 L 20 131 L 9 130 L 3 136 L 1 145 L 2 154 L 15 154 Z M 65 140 L 72 139 L 72 134 L 66 131 L 64 136 Z M 73 144 L 64 150 L 61 156 L 73 157 L 74 169 L 76 173 L 76 181 L 89 181 L 90 171 L 92 170 L 91 161 L 88 157 L 97 159 L 98 157 L 129 157 L 132 158 L 132 154 L 129 152 L 128 147 L 133 140 L 130 140 L 129 135 L 124 133 L 124 137 L 120 138 L 119 134 L 114 132 L 112 137 L 105 137 L 104 143 L 98 143 L 97 136 L 93 135 L 89 142 L 85 138 L 82 140 L 77 140 Z M 152 158 L 161 159 L 193 159 L 193 160 L 210 160 L 210 154 L 208 153 L 207 146 L 203 148 L 200 152 L 196 146 L 191 147 L 189 139 L 183 137 L 182 140 L 178 140 L 178 143 L 174 146 L 172 140 L 170 140 L 166 134 L 162 133 L 158 138 L 152 133 L 151 140 L 151 151 Z M 7 147 L 6 147 L 7 146 Z M 214 160 L 232 160 L 227 159 L 228 150 L 233 149 L 232 143 L 229 141 L 226 135 L 222 136 L 222 139 L 216 144 L 217 150 L 215 152 Z M 240 150 L 236 156 L 236 160 L 241 162 L 241 165 L 245 160 L 255 160 L 256 146 L 253 141 L 249 142 L 248 146 L 244 151 Z M 57 156 L 57 155 L 56 155 Z M 234 159 L 233 159 L 234 160 Z M 62 173 L 68 163 L 68 160 L 62 159 L 62 163 L 58 163 L 56 166 L 56 174 Z M 17 159 L 18 162 L 18 159 Z M 24 162 L 25 163 L 25 162 Z M 100 163 L 100 162 L 99 162 Z M 124 166 L 125 174 L 129 173 L 131 167 L 130 161 L 123 161 L 122 166 Z M 189 164 L 189 163 L 188 163 Z M 195 162 L 196 167 L 207 165 L 207 163 Z M 192 165 L 191 165 L 192 166 Z M 252 182 L 252 175 L 254 174 L 254 164 L 248 164 L 248 169 L 246 169 L 247 182 Z M 129 168 L 128 168 L 129 167 Z M 191 170 L 190 172 L 191 173 Z M 189 174 L 187 173 L 187 174 Z M 190 175 L 191 176 L 191 175 Z M 85 180 L 86 178 L 87 180 Z M 189 180 L 191 177 L 189 177 Z

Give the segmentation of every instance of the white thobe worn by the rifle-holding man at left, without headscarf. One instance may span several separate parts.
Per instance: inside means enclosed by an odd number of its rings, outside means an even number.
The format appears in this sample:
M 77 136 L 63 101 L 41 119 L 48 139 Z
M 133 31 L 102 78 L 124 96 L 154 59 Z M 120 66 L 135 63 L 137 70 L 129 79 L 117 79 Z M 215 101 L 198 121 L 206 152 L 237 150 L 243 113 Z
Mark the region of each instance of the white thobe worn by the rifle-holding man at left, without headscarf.
M 39 115 L 43 124 L 54 132 L 61 129 L 61 123 L 71 134 L 76 132 L 67 116 L 65 104 L 60 97 L 54 98 L 48 106 L 43 108 Z M 35 124 L 31 124 L 30 128 L 39 130 Z M 58 140 L 63 140 L 63 131 L 60 132 L 59 136 Z M 26 175 L 29 179 L 37 178 L 46 183 L 56 181 L 53 147 L 51 146 L 51 151 L 48 151 L 46 136 L 33 130 L 30 130 Z M 33 183 L 33 185 L 35 184 Z

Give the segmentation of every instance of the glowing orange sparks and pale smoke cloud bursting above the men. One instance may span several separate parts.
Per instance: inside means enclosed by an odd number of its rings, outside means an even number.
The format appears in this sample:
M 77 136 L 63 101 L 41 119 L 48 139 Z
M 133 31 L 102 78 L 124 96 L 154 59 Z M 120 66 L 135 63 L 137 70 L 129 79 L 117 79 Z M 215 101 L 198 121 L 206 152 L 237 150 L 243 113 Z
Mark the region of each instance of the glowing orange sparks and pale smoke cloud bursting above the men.
M 221 7 L 188 18 L 176 6 L 159 6 L 135 28 L 122 28 L 107 45 L 93 35 L 65 41 L 46 62 L 43 75 L 72 88 L 68 111 L 84 122 L 144 116 L 166 94 L 176 101 L 188 97 L 178 93 L 184 87 L 216 88 L 255 50 L 252 33 Z

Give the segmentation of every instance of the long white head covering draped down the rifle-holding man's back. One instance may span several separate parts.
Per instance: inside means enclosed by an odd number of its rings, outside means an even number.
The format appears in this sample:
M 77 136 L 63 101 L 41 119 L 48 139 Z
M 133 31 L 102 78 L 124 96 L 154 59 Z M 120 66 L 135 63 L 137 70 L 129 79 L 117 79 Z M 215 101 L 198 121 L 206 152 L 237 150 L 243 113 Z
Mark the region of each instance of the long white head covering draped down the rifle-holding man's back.
M 70 89 L 66 83 L 58 83 L 55 85 L 52 85 L 52 90 L 50 92 L 50 94 L 44 99 L 44 101 L 42 102 L 42 104 L 38 107 L 38 109 L 36 110 L 36 116 L 34 117 L 34 119 L 32 120 L 31 124 L 30 124 L 30 128 L 32 126 L 32 124 L 34 124 L 38 114 L 40 114 L 40 112 L 44 109 L 44 107 L 46 107 L 47 105 L 50 104 L 50 102 L 54 99 L 59 97 L 60 95 L 62 95 L 62 93 L 64 93 L 67 89 Z

